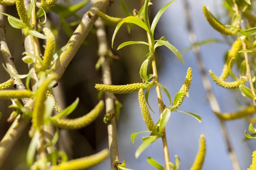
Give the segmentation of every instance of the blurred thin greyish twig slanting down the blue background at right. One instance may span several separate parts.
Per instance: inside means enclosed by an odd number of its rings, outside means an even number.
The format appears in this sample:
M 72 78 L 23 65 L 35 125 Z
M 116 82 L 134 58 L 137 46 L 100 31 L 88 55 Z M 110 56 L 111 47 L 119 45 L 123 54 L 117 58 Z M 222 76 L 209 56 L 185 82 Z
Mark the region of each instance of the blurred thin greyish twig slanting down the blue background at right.
M 189 31 L 189 40 L 191 42 L 191 44 L 195 44 L 197 41 L 197 36 L 192 28 L 192 18 L 191 18 L 191 12 L 190 12 L 190 7 L 189 7 L 189 2 L 188 0 L 183 0 L 183 4 L 184 4 L 184 11 L 186 14 L 186 24 L 187 24 L 187 30 Z M 207 99 L 209 101 L 209 104 L 212 108 L 213 112 L 221 112 L 220 106 L 218 104 L 218 101 L 215 97 L 215 95 L 212 93 L 212 86 L 210 83 L 209 78 L 207 77 L 207 71 L 204 65 L 204 62 L 202 60 L 201 57 L 201 52 L 200 52 L 200 47 L 194 47 L 192 48 L 192 50 L 194 51 L 195 55 L 196 55 L 196 59 L 198 62 L 198 67 L 199 70 L 201 71 L 201 76 L 202 76 L 202 82 L 204 85 L 204 89 L 207 93 Z M 237 159 L 236 153 L 233 150 L 232 144 L 230 142 L 230 137 L 228 135 L 227 132 L 227 127 L 225 125 L 225 122 L 221 119 L 219 119 L 220 125 L 221 125 L 221 132 L 223 133 L 226 145 L 227 145 L 227 151 L 229 153 L 230 156 L 230 160 L 231 163 L 233 165 L 234 170 L 241 170 L 241 167 L 239 165 L 239 161 Z

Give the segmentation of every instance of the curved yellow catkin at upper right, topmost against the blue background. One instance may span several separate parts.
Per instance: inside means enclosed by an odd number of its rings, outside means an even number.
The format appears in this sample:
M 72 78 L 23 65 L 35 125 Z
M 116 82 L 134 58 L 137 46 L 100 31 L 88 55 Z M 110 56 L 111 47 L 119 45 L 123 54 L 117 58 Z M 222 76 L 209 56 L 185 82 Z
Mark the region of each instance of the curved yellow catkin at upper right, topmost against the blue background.
M 237 33 L 237 31 L 231 31 L 229 28 L 227 28 L 223 24 L 219 23 L 215 19 L 215 17 L 213 17 L 213 15 L 208 11 L 206 6 L 204 6 L 204 4 L 203 4 L 203 12 L 204 12 L 204 16 L 207 19 L 208 23 L 212 26 L 212 28 L 214 28 L 219 33 L 224 34 L 224 35 L 234 35 Z

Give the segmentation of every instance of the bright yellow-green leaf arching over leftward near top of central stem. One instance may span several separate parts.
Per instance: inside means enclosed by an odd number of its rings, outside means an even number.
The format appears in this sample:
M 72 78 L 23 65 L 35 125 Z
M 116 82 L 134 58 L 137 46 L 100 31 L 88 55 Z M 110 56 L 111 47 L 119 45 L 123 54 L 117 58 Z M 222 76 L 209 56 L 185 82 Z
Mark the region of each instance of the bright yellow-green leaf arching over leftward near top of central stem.
M 123 19 L 120 23 L 117 24 L 116 29 L 113 33 L 113 37 L 112 37 L 112 48 L 113 48 L 113 43 L 116 37 L 116 34 L 119 30 L 119 28 L 124 24 L 124 23 L 133 23 L 136 24 L 137 26 L 140 26 L 141 28 L 143 28 L 145 31 L 150 32 L 148 27 L 145 25 L 145 23 L 143 23 L 143 21 L 140 18 L 137 17 L 126 17 L 125 19 Z

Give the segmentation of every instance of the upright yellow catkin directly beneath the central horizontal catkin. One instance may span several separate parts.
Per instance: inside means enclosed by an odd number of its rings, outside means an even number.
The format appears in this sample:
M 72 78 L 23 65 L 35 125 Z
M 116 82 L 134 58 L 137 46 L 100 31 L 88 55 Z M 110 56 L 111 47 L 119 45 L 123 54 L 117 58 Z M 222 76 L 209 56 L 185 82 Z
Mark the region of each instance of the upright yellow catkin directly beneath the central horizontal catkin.
M 148 111 L 148 107 L 145 101 L 145 97 L 143 95 L 143 89 L 141 88 L 139 91 L 139 104 L 140 104 L 140 110 L 141 110 L 141 114 L 143 116 L 144 122 L 148 127 L 148 130 L 155 132 L 156 128 L 154 125 L 154 122 L 150 116 L 150 113 Z

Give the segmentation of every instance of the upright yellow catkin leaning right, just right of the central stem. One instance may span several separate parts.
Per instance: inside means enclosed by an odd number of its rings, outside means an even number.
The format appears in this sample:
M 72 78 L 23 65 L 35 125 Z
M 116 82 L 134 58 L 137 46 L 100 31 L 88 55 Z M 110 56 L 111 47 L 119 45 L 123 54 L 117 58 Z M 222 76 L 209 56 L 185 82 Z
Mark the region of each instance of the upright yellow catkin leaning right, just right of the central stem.
M 178 93 L 187 93 L 189 91 L 191 82 L 192 82 L 192 69 L 189 67 L 189 69 L 187 70 L 187 75 L 186 75 L 185 81 Z M 182 104 L 185 97 L 186 97 L 185 94 L 180 97 L 179 101 L 177 102 L 177 107 L 179 107 Z

